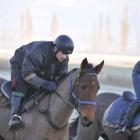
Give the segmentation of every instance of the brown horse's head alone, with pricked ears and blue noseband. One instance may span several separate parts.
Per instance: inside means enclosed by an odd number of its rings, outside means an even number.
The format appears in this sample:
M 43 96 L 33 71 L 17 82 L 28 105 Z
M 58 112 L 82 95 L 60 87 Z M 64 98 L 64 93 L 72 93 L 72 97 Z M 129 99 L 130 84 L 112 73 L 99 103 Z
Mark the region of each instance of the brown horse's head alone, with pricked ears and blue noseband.
M 87 58 L 81 62 L 77 81 L 77 106 L 83 126 L 92 124 L 95 116 L 96 94 L 100 88 L 97 75 L 102 70 L 104 61 L 97 66 L 88 63 Z

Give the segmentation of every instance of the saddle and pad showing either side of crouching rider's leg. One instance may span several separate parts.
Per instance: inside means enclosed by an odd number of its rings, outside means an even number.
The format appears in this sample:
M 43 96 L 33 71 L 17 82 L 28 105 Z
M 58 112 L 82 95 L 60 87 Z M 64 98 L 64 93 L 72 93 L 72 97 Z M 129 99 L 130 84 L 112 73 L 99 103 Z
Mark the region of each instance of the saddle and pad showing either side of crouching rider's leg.
M 11 88 L 11 81 L 6 81 L 1 85 L 1 92 L 3 96 L 7 99 L 4 103 L 5 105 L 9 105 L 11 102 L 12 97 L 12 88 Z M 35 104 L 37 104 L 45 94 L 40 94 L 39 91 L 35 92 L 31 96 L 25 98 L 22 103 L 21 113 L 29 112 Z

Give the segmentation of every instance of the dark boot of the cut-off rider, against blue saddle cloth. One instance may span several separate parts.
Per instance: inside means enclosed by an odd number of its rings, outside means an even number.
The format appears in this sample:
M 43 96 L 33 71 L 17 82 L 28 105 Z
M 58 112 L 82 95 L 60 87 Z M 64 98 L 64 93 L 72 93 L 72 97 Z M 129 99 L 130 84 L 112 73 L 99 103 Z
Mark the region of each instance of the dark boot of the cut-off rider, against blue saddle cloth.
M 125 136 L 132 135 L 131 132 L 132 121 L 139 107 L 140 107 L 140 102 L 134 102 L 130 105 L 122 123 L 120 124 L 120 128 L 116 131 L 116 134 L 121 134 Z

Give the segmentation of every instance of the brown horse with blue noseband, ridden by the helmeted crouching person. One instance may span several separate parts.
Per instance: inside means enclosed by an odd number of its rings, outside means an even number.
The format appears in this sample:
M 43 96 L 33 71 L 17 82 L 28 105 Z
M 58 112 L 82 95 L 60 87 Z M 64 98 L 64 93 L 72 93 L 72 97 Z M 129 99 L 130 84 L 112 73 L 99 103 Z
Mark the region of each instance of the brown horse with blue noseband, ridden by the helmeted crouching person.
M 80 69 L 72 70 L 60 81 L 56 92 L 45 96 L 38 104 L 23 113 L 24 127 L 8 129 L 9 107 L 0 107 L 0 140 L 68 140 L 68 120 L 74 107 L 79 111 L 81 124 L 90 126 L 94 120 L 95 97 L 99 89 L 97 74 L 104 61 L 94 67 L 85 58 Z M 0 84 L 4 82 L 0 80 Z M 0 102 L 5 99 L 3 94 Z M 43 113 L 40 113 L 43 112 Z

